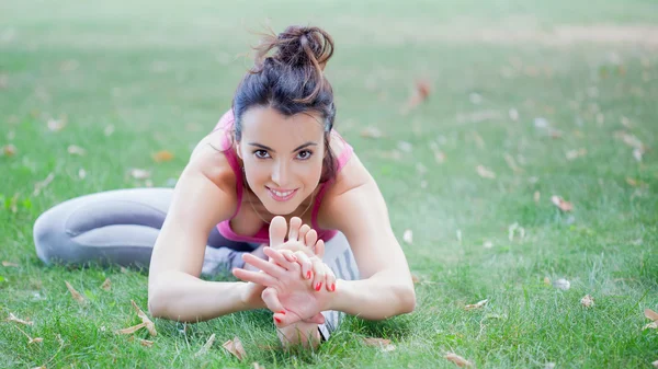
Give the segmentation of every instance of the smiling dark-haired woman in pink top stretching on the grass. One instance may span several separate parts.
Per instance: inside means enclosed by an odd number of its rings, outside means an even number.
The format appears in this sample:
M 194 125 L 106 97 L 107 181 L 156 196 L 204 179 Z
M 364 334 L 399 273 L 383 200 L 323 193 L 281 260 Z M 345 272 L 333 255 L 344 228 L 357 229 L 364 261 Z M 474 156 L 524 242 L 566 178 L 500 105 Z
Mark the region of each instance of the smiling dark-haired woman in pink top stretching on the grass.
M 268 307 L 284 342 L 317 344 L 318 327 L 327 338 L 339 312 L 368 320 L 411 312 L 413 284 L 383 196 L 332 129 L 322 73 L 332 38 L 290 26 L 257 50 L 232 108 L 196 146 L 175 188 L 60 204 L 35 223 L 37 254 L 150 263 L 154 316 L 196 322 Z M 247 282 L 198 278 L 220 266 Z

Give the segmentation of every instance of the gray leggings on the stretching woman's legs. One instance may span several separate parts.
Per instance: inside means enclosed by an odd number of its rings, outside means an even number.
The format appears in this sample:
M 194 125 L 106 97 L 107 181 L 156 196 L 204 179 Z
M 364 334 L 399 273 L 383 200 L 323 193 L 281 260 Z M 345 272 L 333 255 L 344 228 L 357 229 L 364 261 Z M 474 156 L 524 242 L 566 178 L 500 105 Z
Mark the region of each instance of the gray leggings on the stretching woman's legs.
M 148 268 L 154 244 L 173 195 L 173 188 L 114 189 L 64 201 L 34 223 L 36 254 L 46 264 L 117 264 Z M 243 266 L 241 254 L 259 244 L 225 239 L 216 228 L 208 235 L 202 274 Z M 342 233 L 325 244 L 322 261 L 337 278 L 359 279 L 359 268 Z M 325 338 L 337 327 L 339 313 L 324 312 Z

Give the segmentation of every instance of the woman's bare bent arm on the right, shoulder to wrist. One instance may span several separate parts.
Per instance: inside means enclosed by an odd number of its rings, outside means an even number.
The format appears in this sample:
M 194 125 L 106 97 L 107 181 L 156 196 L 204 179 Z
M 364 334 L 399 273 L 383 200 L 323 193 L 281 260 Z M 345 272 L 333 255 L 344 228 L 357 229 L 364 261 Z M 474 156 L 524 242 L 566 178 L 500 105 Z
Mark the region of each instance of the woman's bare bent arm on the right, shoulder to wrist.
M 345 234 L 363 279 L 338 280 L 329 308 L 368 320 L 409 313 L 416 292 L 407 260 L 379 188 L 358 159 L 352 160 L 349 174 L 362 183 L 327 200 L 326 223 Z

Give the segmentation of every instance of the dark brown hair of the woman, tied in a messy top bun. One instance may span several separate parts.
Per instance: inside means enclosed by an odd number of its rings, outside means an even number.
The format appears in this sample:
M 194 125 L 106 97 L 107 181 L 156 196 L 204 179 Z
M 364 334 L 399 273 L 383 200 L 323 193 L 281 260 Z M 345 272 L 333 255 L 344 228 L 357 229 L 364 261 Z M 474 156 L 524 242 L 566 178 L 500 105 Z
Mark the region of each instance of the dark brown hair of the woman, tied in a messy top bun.
M 319 27 L 288 26 L 265 34 L 254 66 L 242 79 L 232 101 L 235 138 L 242 136 L 242 115 L 253 106 L 272 107 L 285 116 L 318 113 L 325 129 L 325 158 L 320 182 L 336 176 L 336 160 L 329 148 L 336 117 L 333 90 L 324 76 L 333 55 L 333 39 Z M 275 53 L 268 54 L 275 49 Z

